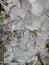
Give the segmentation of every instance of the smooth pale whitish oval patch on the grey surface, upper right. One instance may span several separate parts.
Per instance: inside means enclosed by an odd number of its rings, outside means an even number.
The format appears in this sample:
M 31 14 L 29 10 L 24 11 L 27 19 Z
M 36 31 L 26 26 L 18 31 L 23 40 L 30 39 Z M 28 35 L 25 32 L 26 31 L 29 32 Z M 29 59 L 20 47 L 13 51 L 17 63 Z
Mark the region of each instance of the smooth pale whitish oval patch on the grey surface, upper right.
M 34 3 L 34 4 L 32 4 L 31 11 L 32 11 L 32 13 L 35 16 L 37 16 L 37 17 L 41 16 L 41 14 L 43 12 L 42 5 L 40 3 Z

